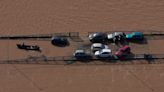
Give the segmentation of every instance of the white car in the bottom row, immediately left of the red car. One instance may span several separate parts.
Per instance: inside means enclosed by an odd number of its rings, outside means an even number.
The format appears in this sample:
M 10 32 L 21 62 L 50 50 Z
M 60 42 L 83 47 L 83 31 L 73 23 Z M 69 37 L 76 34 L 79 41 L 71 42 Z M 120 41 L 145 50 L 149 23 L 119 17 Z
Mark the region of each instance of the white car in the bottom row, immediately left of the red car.
M 100 51 L 96 51 L 95 56 L 100 57 L 100 58 L 112 57 L 112 50 L 111 49 L 102 49 Z

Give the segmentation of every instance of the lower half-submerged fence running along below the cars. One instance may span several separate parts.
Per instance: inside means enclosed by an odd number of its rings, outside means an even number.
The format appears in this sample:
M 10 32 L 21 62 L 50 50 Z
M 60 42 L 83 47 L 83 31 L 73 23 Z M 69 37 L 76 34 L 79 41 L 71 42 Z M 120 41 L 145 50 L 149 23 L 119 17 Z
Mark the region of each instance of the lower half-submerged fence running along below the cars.
M 110 64 L 161 64 L 164 63 L 164 54 L 135 54 L 121 61 L 118 58 L 76 59 L 73 56 L 46 57 L 29 56 L 15 60 L 0 60 L 0 64 L 45 64 L 45 65 L 110 65 Z

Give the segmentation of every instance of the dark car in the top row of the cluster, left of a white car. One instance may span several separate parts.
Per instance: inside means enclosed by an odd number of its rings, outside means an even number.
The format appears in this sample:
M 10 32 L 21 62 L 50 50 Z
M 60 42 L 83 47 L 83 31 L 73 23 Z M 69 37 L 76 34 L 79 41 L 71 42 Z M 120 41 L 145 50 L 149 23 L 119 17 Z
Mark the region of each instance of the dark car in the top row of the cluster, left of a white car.
M 89 35 L 89 40 L 92 43 L 103 43 L 107 41 L 107 34 L 101 32 L 92 33 Z

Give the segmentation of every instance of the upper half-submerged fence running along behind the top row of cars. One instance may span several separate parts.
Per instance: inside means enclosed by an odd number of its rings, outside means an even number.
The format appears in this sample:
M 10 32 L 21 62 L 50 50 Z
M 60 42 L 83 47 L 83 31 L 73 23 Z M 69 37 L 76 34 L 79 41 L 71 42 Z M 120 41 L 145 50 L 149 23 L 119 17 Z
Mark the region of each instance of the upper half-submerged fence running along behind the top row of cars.
M 114 32 L 114 31 L 113 31 Z M 113 33 L 112 31 L 107 31 L 104 33 Z M 135 31 L 122 31 L 125 33 L 131 33 Z M 87 35 L 94 33 L 88 32 Z M 145 38 L 148 40 L 164 39 L 164 32 L 162 31 L 142 31 Z M 69 37 L 74 41 L 82 41 L 79 32 L 65 32 L 65 33 L 52 33 L 52 34 L 33 34 L 33 35 L 6 35 L 0 36 L 0 40 L 50 40 L 53 36 Z

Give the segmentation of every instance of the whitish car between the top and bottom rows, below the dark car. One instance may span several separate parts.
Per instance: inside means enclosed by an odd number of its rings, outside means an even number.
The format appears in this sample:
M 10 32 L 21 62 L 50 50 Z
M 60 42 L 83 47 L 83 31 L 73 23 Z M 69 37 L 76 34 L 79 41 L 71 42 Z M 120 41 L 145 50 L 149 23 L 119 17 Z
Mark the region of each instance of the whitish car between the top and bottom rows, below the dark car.
M 108 49 L 108 46 L 107 46 L 107 45 L 104 45 L 104 44 L 102 44 L 102 43 L 94 43 L 94 44 L 92 44 L 92 46 L 91 46 L 91 50 L 92 50 L 93 52 L 99 51 L 99 50 L 102 50 L 102 49 Z

